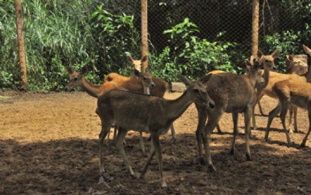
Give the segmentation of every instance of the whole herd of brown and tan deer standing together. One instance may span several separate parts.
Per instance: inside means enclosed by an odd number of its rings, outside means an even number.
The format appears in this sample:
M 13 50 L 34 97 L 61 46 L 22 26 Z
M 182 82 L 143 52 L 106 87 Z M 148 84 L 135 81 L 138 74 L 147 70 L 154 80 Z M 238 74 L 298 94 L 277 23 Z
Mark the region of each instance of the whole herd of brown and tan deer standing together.
M 310 48 L 303 45 L 303 49 L 305 53 L 311 56 Z M 70 74 L 68 89 L 80 86 L 89 95 L 97 97 L 96 113 L 102 122 L 100 174 L 105 171 L 102 160 L 104 139 L 107 134 L 109 136 L 110 129 L 114 124 L 113 140 L 129 174 L 134 178 L 143 177 L 151 159 L 157 152 L 160 183 L 162 187 L 166 187 L 167 185 L 162 177 L 162 151 L 159 137 L 171 128 L 173 140 L 176 140 L 173 121 L 179 118 L 193 102 L 198 110 L 196 138 L 200 163 L 204 164 L 206 159 L 208 168 L 211 170 L 215 171 L 216 169 L 211 162 L 209 139 L 215 127 L 220 132 L 218 122 L 223 113 L 232 113 L 234 123 L 231 154 L 234 154 L 234 145 L 238 133 L 238 113 L 244 113 L 246 158 L 247 160 L 252 159 L 249 150 L 249 138 L 252 138 L 250 119 L 252 118 L 253 129 L 256 129 L 254 107 L 263 95 L 279 99 L 279 104 L 269 113 L 265 140 L 268 140 L 273 118 L 281 112 L 283 129 L 288 145 L 290 145 L 290 136 L 285 126 L 285 116 L 288 109 L 291 108 L 291 115 L 294 112 L 294 131 L 297 131 L 296 107 L 308 110 L 309 122 L 311 122 L 311 67 L 303 75 L 297 75 L 295 71 L 288 74 L 273 72 L 271 69 L 275 66 L 274 59 L 278 55 L 279 50 L 274 51 L 271 55 L 263 55 L 258 50 L 257 57 L 251 57 L 246 62 L 246 75 L 211 71 L 194 82 L 190 82 L 186 77 L 180 75 L 180 80 L 185 84 L 187 90 L 176 100 L 163 98 L 169 84 L 159 78 L 151 77 L 149 68 L 144 73 L 140 72 L 141 65 L 147 60 L 147 56 L 140 60 L 133 60 L 132 57 L 127 56 L 129 62 L 134 66 L 133 77 L 110 73 L 106 76 L 104 84 L 98 85 L 91 84 L 85 79 L 84 75 L 88 72 L 86 67 L 82 68 L 81 73 L 67 68 Z M 295 67 L 299 66 L 292 55 L 288 56 L 288 60 L 291 70 L 295 70 Z M 129 129 L 140 132 L 140 149 L 143 152 L 142 132 L 151 135 L 151 151 L 139 175 L 134 174 L 124 152 L 123 142 Z M 311 126 L 301 142 L 301 147 L 305 146 L 310 131 Z M 202 146 L 205 149 L 205 158 L 202 157 Z

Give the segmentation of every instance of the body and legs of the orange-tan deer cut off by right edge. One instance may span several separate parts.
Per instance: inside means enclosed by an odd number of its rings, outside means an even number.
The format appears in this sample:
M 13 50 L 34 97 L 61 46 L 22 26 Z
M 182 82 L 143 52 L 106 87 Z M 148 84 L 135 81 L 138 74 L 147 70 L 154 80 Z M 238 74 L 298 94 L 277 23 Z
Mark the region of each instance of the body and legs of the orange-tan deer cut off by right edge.
M 290 135 L 285 125 L 285 117 L 290 104 L 294 104 L 294 106 L 308 111 L 310 126 L 308 133 L 301 142 L 301 147 L 304 147 L 311 131 L 311 84 L 307 82 L 297 82 L 296 80 L 283 80 L 274 84 L 273 91 L 276 93 L 277 97 L 279 97 L 279 104 L 269 113 L 267 129 L 265 129 L 265 140 L 268 140 L 272 120 L 281 111 L 281 121 L 286 139 L 288 140 L 288 146 L 291 145 Z

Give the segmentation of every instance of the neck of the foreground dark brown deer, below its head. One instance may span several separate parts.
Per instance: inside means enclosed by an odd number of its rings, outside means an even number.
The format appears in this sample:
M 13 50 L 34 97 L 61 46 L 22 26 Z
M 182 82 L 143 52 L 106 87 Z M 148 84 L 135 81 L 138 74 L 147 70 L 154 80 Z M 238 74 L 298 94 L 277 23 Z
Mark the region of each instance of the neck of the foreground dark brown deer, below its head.
M 166 114 L 168 118 L 176 120 L 186 111 L 192 102 L 194 101 L 190 100 L 188 91 L 182 93 L 176 100 L 167 100 Z

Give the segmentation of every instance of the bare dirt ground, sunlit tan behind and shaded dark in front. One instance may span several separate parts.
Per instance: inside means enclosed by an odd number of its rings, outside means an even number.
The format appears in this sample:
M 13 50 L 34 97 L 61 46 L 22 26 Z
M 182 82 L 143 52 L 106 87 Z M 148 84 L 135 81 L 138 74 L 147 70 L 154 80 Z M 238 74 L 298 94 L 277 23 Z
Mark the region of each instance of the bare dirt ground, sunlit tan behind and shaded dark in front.
M 232 117 L 220 121 L 224 134 L 211 136 L 211 157 L 216 172 L 198 163 L 197 113 L 192 104 L 171 133 L 161 137 L 163 174 L 168 187 L 160 188 L 158 160 L 153 158 L 147 174 L 134 179 L 126 173 L 122 158 L 111 143 L 105 147 L 104 164 L 110 180 L 99 183 L 100 119 L 96 99 L 84 92 L 0 92 L 0 194 L 311 194 L 311 138 L 299 145 L 309 127 L 307 112 L 299 109 L 299 133 L 290 134 L 294 145 L 286 146 L 285 133 L 275 118 L 270 142 L 264 142 L 267 117 L 258 115 L 258 140 L 250 141 L 252 161 L 245 160 L 243 116 L 240 115 L 236 154 L 232 143 Z M 167 93 L 173 99 L 181 93 Z M 276 100 L 264 97 L 268 113 Z M 111 129 L 113 130 L 113 129 Z M 145 147 L 150 142 L 144 134 Z M 129 131 L 125 148 L 133 170 L 140 171 L 146 156 L 139 149 L 138 133 Z

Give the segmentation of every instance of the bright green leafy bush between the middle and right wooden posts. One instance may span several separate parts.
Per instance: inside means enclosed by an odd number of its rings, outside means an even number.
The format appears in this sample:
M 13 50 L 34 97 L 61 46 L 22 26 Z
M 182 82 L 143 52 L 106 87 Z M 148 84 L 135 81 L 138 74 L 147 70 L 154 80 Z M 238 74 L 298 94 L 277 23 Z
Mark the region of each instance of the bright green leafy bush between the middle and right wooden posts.
M 166 47 L 158 57 L 153 59 L 153 74 L 167 81 L 178 80 L 178 73 L 196 79 L 208 71 L 222 70 L 235 72 L 230 62 L 228 48 L 235 44 L 229 42 L 210 42 L 198 38 L 199 30 L 189 19 L 165 30 L 169 34 L 171 47 Z M 179 44 L 177 44 L 179 43 Z

